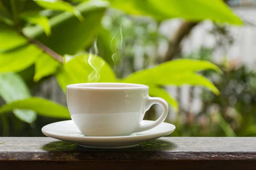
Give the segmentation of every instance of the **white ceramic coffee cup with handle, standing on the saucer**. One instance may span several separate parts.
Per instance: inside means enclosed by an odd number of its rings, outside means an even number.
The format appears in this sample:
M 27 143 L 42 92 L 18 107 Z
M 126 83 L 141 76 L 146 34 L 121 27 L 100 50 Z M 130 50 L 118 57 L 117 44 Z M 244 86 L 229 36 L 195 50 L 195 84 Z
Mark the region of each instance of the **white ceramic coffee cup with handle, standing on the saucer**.
M 141 125 L 145 111 L 159 104 L 163 113 Z M 76 127 L 85 136 L 126 136 L 152 129 L 168 114 L 168 104 L 148 96 L 148 86 L 129 83 L 81 83 L 67 85 L 67 106 Z

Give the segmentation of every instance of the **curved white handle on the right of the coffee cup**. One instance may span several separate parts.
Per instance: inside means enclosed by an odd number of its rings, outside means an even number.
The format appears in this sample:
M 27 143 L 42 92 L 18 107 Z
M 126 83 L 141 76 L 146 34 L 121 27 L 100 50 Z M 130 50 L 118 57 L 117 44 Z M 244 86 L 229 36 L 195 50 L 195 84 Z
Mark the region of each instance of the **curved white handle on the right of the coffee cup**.
M 154 122 L 149 123 L 147 125 L 139 125 L 134 132 L 142 132 L 145 130 L 149 130 L 152 129 L 154 127 L 156 127 L 157 125 L 159 125 L 160 123 L 162 123 L 168 114 L 168 104 L 167 102 L 159 97 L 150 97 L 148 96 L 147 99 L 145 100 L 145 111 L 147 111 L 149 108 L 151 108 L 152 105 L 154 104 L 159 104 L 162 106 L 163 108 L 163 113 L 161 114 L 161 116 Z

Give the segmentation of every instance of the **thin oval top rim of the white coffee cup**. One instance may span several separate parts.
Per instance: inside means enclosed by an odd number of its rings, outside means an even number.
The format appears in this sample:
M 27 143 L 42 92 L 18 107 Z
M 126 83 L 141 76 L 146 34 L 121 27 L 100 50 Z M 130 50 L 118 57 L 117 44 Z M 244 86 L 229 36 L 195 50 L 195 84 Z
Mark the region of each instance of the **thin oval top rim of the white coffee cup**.
M 109 87 L 100 87 L 100 86 L 88 86 L 88 85 L 116 85 L 116 87 L 109 86 Z M 123 85 L 123 87 L 120 87 Z M 126 85 L 126 86 L 125 86 Z M 135 84 L 135 83 L 119 83 L 119 82 L 90 82 L 90 83 L 76 83 L 67 85 L 67 89 L 106 89 L 106 90 L 137 90 L 137 89 L 148 89 L 147 85 L 143 84 Z

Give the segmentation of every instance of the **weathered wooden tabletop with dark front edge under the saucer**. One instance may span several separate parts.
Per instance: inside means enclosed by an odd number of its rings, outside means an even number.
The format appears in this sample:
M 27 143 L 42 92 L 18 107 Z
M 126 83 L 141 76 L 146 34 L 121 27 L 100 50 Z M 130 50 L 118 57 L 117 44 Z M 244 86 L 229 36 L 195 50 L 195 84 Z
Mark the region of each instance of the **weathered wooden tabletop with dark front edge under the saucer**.
M 90 149 L 47 137 L 0 137 L 0 170 L 254 170 L 256 137 L 163 137 Z

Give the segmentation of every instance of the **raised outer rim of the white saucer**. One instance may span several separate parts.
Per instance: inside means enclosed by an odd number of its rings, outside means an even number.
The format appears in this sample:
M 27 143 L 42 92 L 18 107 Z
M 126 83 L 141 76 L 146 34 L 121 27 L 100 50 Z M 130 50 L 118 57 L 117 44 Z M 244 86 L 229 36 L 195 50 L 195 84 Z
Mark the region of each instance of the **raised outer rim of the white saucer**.
M 146 133 L 146 134 L 140 134 L 140 135 L 134 135 L 134 136 L 131 136 L 131 135 L 127 135 L 127 136 L 69 136 L 69 135 L 65 135 L 65 134 L 60 134 L 60 133 L 50 133 L 47 131 L 49 130 L 44 130 L 47 126 L 49 125 L 52 125 L 52 124 L 57 124 L 57 123 L 61 123 L 61 122 L 73 122 L 73 120 L 64 120 L 64 121 L 59 121 L 59 122 L 53 122 L 53 123 L 50 123 L 48 125 L 45 125 L 44 127 L 42 127 L 41 131 L 44 135 L 46 136 L 49 136 L 49 137 L 52 137 L 52 138 L 55 138 L 55 139 L 60 139 L 60 137 L 65 137 L 65 138 L 72 138 L 72 139 L 86 139 L 86 140 L 94 140 L 94 139 L 104 139 L 104 140 L 112 140 L 112 139 L 140 139 L 140 138 L 144 138 L 144 137 L 147 137 L 147 136 L 152 136 L 152 135 L 158 135 L 158 136 L 167 136 L 169 134 L 171 134 L 175 129 L 176 129 L 176 126 L 171 124 L 171 123 L 166 123 L 166 122 L 162 122 L 161 124 L 167 124 L 167 125 L 171 125 L 172 127 L 169 129 L 169 130 L 164 130 L 164 131 L 159 131 L 159 132 L 155 132 L 155 133 Z M 143 122 L 154 122 L 154 121 L 151 121 L 151 120 L 143 120 Z M 140 132 L 139 132 L 140 133 Z M 64 139 L 61 139 L 61 140 L 64 140 Z M 65 139 L 67 140 L 67 139 Z M 106 141 L 107 142 L 107 141 Z

